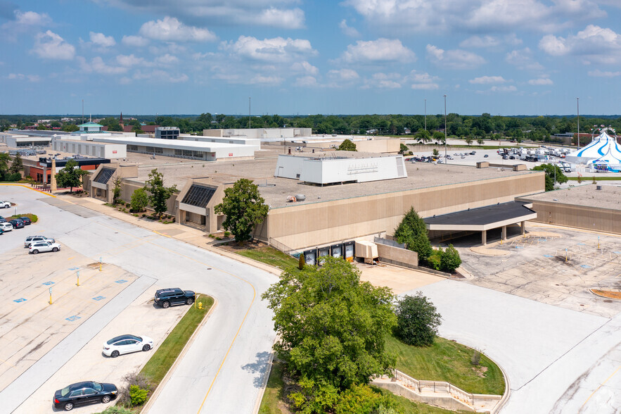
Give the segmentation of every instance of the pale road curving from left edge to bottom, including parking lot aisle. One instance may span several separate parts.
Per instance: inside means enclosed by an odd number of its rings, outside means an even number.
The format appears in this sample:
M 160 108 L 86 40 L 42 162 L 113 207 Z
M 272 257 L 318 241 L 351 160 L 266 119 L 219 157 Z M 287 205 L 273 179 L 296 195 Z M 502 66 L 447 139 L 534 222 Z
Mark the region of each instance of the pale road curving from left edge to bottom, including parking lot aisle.
M 260 295 L 276 281 L 276 276 L 30 189 L 1 186 L 0 191 L 3 199 L 18 204 L 18 213 L 39 216 L 40 222 L 30 226 L 30 232 L 36 229 L 37 233 L 56 237 L 94 261 L 101 258 L 139 278 L 217 299 L 217 308 L 162 389 L 151 413 L 252 412 L 275 337 L 271 311 Z M 18 231 L 24 232 L 14 230 Z M 25 237 L 30 233 L 23 234 Z M 13 247 L 0 244 L 0 253 Z M 143 290 L 150 285 L 144 284 Z M 142 293 L 139 290 L 106 304 L 98 315 L 104 319 L 84 324 L 87 330 L 80 332 L 79 343 L 94 337 L 107 323 L 105 318 L 111 319 L 115 311 L 129 305 Z M 0 403 L 11 410 L 17 408 L 23 400 L 15 401 L 13 392 L 20 389 L 22 394 L 30 395 L 36 391 L 55 372 L 58 363 L 75 353 L 69 348 L 64 351 L 62 355 L 51 351 L 41 358 L 15 385 L 0 393 Z

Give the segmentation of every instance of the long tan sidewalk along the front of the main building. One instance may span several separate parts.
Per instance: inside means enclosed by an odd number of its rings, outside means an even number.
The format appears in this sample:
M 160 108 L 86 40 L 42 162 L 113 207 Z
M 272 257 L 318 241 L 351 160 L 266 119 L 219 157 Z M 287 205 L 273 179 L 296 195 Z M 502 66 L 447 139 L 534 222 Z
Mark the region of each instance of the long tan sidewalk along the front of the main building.
M 225 251 L 224 249 L 218 249 L 217 247 L 212 245 L 212 239 L 206 237 L 205 232 L 203 232 L 202 230 L 198 230 L 193 227 L 188 227 L 184 225 L 179 225 L 177 223 L 162 224 L 161 222 L 155 220 L 134 217 L 131 214 L 122 213 L 121 211 L 118 211 L 117 209 L 110 206 L 105 206 L 104 201 L 93 199 L 91 197 L 74 197 L 65 194 L 56 194 L 56 198 L 62 201 L 67 201 L 68 203 L 76 204 L 77 206 L 88 208 L 89 210 L 96 211 L 101 214 L 108 215 L 113 218 L 117 218 L 124 222 L 129 222 L 130 224 L 142 227 L 143 229 L 151 230 L 152 232 L 160 234 L 164 237 L 169 237 L 170 239 L 177 239 L 180 242 L 192 244 L 193 246 L 197 246 L 201 249 L 211 251 L 212 253 L 217 253 L 220 256 L 232 258 L 233 260 L 240 261 L 242 263 L 254 266 L 255 268 L 265 270 L 266 272 L 273 273 L 274 275 L 281 274 L 281 270 L 278 268 L 274 268 L 261 262 L 253 261 L 250 258 L 245 258 L 244 256 Z

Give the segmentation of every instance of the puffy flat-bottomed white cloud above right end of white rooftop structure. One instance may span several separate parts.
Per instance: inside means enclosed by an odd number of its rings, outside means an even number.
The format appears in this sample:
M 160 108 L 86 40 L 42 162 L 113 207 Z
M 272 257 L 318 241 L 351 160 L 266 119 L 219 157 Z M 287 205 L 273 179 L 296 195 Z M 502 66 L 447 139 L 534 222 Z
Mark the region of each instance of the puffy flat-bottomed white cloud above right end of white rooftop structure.
M 403 46 L 399 39 L 359 40 L 347 46 L 342 54 L 346 63 L 388 63 L 416 61 L 416 54 Z

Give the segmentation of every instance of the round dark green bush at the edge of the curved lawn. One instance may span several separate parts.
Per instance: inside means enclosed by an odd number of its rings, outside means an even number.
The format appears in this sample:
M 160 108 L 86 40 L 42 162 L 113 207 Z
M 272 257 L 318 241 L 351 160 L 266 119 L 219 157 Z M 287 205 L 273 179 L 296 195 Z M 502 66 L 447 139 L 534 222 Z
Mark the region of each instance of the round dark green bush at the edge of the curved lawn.
M 423 292 L 416 296 L 406 295 L 397 303 L 397 328 L 395 334 L 404 343 L 414 346 L 430 346 L 437 334 L 442 316 Z

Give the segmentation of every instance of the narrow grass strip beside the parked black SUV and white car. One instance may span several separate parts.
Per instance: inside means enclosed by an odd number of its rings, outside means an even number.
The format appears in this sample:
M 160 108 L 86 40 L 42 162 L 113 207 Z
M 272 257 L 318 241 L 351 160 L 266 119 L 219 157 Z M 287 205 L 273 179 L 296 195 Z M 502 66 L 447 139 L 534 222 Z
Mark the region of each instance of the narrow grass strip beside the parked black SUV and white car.
M 203 309 L 199 309 L 198 306 L 191 306 L 140 372 L 153 382 L 155 387 L 160 384 L 162 378 L 172 367 L 177 356 L 184 349 L 184 346 L 214 303 L 214 299 L 211 296 L 200 295 L 199 297 L 197 294 L 196 297 L 197 303 L 203 302 Z

